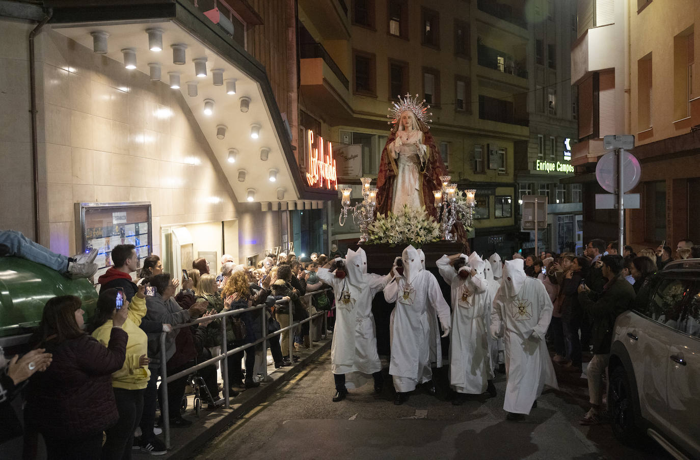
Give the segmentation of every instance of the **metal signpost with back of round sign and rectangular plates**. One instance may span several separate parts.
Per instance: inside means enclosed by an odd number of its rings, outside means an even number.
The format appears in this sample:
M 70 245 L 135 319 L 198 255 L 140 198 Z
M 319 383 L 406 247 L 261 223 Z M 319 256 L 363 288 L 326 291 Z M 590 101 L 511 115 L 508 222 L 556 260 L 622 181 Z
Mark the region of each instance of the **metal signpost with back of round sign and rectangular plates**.
M 596 179 L 600 186 L 614 194 L 596 193 L 597 209 L 615 209 L 619 223 L 617 226 L 619 249 L 624 248 L 624 208 L 636 209 L 640 205 L 638 193 L 626 194 L 635 188 L 642 175 L 642 168 L 639 160 L 626 151 L 634 148 L 634 136 L 626 134 L 624 136 L 605 136 L 603 146 L 606 150 L 615 150 L 605 153 L 596 165 Z M 613 200 L 616 198 L 616 200 Z

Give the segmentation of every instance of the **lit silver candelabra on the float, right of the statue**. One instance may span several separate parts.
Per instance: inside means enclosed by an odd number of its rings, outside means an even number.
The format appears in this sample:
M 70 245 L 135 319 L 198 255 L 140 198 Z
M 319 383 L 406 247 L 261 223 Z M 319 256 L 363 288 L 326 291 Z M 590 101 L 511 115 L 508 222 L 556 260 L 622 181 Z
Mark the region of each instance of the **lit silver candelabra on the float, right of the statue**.
M 447 241 L 456 239 L 456 235 L 451 233 L 452 226 L 456 222 L 461 222 L 467 227 L 474 225 L 474 207 L 476 204 L 476 190 L 465 190 L 465 200 L 458 200 L 462 192 L 457 190 L 456 183 L 450 183 L 451 179 L 451 176 L 440 176 L 442 188 L 433 190 L 437 221 L 440 222 L 440 232 L 442 232 L 442 238 Z

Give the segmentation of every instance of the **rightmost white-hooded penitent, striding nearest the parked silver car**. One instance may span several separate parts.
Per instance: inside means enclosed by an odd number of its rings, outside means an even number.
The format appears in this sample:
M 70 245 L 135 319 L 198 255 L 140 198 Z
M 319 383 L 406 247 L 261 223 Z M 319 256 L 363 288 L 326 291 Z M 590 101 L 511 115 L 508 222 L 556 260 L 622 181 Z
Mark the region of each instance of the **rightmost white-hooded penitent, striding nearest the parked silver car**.
M 507 412 L 529 414 L 545 385 L 559 388 L 545 345 L 551 319 L 552 301 L 545 286 L 525 274 L 522 259 L 506 260 L 493 300 L 491 334 L 504 330 Z

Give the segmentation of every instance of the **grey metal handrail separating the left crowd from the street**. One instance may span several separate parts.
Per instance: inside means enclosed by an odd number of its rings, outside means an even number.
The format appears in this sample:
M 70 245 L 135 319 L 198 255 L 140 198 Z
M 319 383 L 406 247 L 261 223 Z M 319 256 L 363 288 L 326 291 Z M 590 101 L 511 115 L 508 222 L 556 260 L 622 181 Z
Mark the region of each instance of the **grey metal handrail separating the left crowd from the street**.
M 312 291 L 310 293 L 306 293 L 304 295 L 301 295 L 299 298 L 307 298 L 311 297 L 313 295 L 316 295 L 318 293 L 323 293 L 327 291 L 332 291 L 332 288 L 324 288 L 320 289 L 318 291 Z M 160 391 L 162 391 L 162 398 L 161 400 L 163 401 L 162 406 L 160 407 L 160 412 L 162 414 L 162 420 L 163 420 L 163 432 L 165 433 L 165 447 L 170 449 L 170 419 L 169 419 L 169 405 L 167 403 L 168 400 L 168 383 L 173 382 L 176 379 L 179 379 L 181 377 L 185 377 L 186 375 L 190 375 L 192 372 L 195 372 L 197 370 L 200 370 L 202 368 L 207 367 L 208 365 L 212 365 L 216 363 L 217 361 L 221 361 L 221 377 L 223 378 L 223 398 L 215 401 L 216 405 L 218 404 L 223 404 L 227 409 L 230 408 L 230 401 L 229 401 L 229 386 L 228 386 L 228 356 L 232 356 L 233 354 L 238 353 L 239 351 L 244 351 L 245 349 L 248 349 L 250 347 L 255 347 L 255 345 L 262 343 L 262 351 L 267 356 L 267 340 L 269 337 L 274 337 L 276 335 L 279 335 L 283 333 L 285 330 L 290 330 L 294 328 L 295 326 L 298 326 L 303 323 L 307 323 L 311 321 L 314 318 L 317 318 L 318 316 L 322 316 L 324 314 L 328 314 L 327 310 L 321 310 L 320 312 L 316 312 L 315 314 L 312 314 L 309 316 L 307 319 L 303 319 L 302 321 L 298 321 L 297 323 L 294 322 L 293 318 L 293 305 L 292 305 L 292 299 L 289 300 L 276 300 L 274 302 L 275 305 L 281 305 L 283 303 L 287 303 L 289 307 L 289 326 L 285 326 L 284 328 L 280 328 L 279 330 L 274 331 L 273 333 L 268 333 L 267 332 L 267 314 L 263 311 L 262 314 L 260 314 L 260 323 L 262 326 L 262 337 L 260 339 L 255 340 L 255 342 L 252 343 L 246 343 L 241 345 L 240 347 L 236 347 L 232 350 L 227 349 L 227 340 L 226 340 L 226 319 L 228 316 L 237 316 L 241 313 L 246 313 L 246 312 L 253 312 L 258 309 L 265 309 L 267 307 L 267 304 L 262 303 L 260 305 L 254 305 L 253 307 L 247 307 L 247 308 L 239 308 L 239 309 L 234 309 L 234 310 L 229 310 L 228 312 L 223 312 L 223 313 L 217 313 L 217 314 L 212 314 L 211 316 L 204 316 L 202 318 L 197 318 L 194 321 L 190 321 L 189 323 L 182 323 L 182 324 L 176 324 L 172 326 L 172 330 L 176 329 L 183 329 L 186 327 L 194 326 L 195 324 L 199 323 L 204 323 L 207 321 L 214 321 L 214 319 L 221 319 L 221 353 L 218 354 L 218 356 L 212 356 L 211 358 L 207 359 L 207 361 L 203 361 L 202 363 L 193 365 L 190 368 L 187 368 L 185 370 L 181 370 L 180 372 L 176 372 L 174 375 L 168 375 L 167 373 L 167 357 L 166 357 L 166 349 L 165 349 L 165 337 L 167 337 L 168 333 L 161 333 L 160 334 L 160 370 L 161 370 L 161 375 L 160 375 Z M 335 308 L 335 307 L 332 307 Z M 325 317 L 324 318 L 324 328 L 325 328 Z M 327 329 L 324 329 L 327 330 Z M 290 355 L 291 355 L 291 350 L 294 349 L 294 334 L 289 335 L 289 349 L 290 349 Z M 289 356 L 292 358 L 292 356 Z M 265 365 L 263 367 L 263 381 L 267 380 L 267 360 Z

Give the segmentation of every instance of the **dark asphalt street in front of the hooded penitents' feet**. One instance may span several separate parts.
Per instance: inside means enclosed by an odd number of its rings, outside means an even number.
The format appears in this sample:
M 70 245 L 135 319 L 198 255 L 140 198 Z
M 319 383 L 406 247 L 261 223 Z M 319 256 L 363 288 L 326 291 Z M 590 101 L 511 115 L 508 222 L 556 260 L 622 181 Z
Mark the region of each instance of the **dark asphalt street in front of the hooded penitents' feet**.
M 444 368 L 435 376 L 437 398 L 416 391 L 393 405 L 386 375 L 380 395 L 368 384 L 332 403 L 326 352 L 195 459 L 671 459 L 652 440 L 621 445 L 608 424 L 580 426 L 585 381 L 562 377 L 561 390 L 545 389 L 538 407 L 517 422 L 505 420 L 505 376 L 496 377 L 496 398 L 475 396 L 454 406 L 444 400 Z

